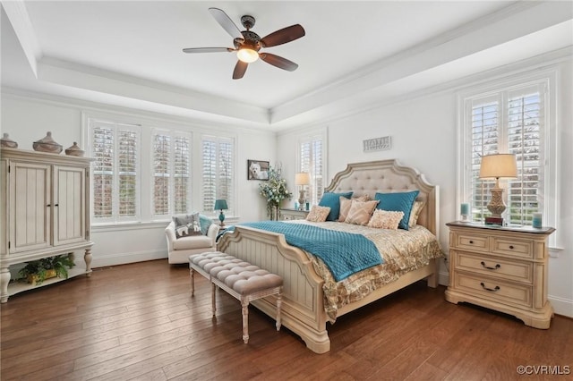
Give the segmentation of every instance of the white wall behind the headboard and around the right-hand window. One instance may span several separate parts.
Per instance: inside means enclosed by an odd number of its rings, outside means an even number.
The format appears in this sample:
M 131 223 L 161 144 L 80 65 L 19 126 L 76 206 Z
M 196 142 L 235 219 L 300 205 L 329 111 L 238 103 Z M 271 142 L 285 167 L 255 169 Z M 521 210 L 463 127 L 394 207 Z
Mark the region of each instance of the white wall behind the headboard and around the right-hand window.
M 560 218 L 557 226 L 560 234 L 557 247 L 550 250 L 549 298 L 557 313 L 573 317 L 572 61 L 561 66 L 558 105 Z M 461 86 L 464 84 L 457 84 L 457 88 Z M 458 219 L 457 88 L 381 106 L 326 125 L 329 137 L 327 183 L 334 174 L 345 169 L 347 163 L 397 158 L 403 165 L 418 169 L 429 182 L 440 186 L 439 239 L 445 252 L 449 249 L 449 231 L 445 224 Z M 286 167 L 295 168 L 293 153 L 296 141 L 299 134 L 307 133 L 309 128 L 279 134 L 278 160 Z M 391 137 L 391 149 L 363 153 L 363 140 L 384 136 Z M 448 284 L 448 278 L 447 267 L 442 264 L 440 284 Z

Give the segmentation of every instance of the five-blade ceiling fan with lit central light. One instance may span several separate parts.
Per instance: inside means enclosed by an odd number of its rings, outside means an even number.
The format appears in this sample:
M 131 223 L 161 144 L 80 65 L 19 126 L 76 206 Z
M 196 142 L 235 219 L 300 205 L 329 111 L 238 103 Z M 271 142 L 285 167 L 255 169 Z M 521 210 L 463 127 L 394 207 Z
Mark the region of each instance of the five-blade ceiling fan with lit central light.
M 249 15 L 241 17 L 241 23 L 245 28 L 245 30 L 241 31 L 224 11 L 218 8 L 209 8 L 209 12 L 223 29 L 227 30 L 227 33 L 234 38 L 233 45 L 235 47 L 188 47 L 183 49 L 184 53 L 236 52 L 238 61 L 233 71 L 234 80 L 243 78 L 249 63 L 255 62 L 258 58 L 288 72 L 294 72 L 298 67 L 298 64 L 286 58 L 270 53 L 260 53 L 259 51 L 262 47 L 276 47 L 303 37 L 304 28 L 300 24 L 274 31 L 268 36 L 261 38 L 251 30 L 255 23 L 254 17 Z

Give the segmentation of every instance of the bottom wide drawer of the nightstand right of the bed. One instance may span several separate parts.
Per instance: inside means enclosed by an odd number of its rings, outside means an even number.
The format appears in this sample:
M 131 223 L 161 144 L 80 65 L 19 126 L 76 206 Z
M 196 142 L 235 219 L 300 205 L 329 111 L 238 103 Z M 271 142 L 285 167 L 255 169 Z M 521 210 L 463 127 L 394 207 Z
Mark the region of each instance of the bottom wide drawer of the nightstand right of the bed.
M 531 285 L 512 284 L 488 276 L 456 273 L 454 287 L 460 292 L 468 292 L 489 301 L 500 301 L 520 307 L 533 306 Z

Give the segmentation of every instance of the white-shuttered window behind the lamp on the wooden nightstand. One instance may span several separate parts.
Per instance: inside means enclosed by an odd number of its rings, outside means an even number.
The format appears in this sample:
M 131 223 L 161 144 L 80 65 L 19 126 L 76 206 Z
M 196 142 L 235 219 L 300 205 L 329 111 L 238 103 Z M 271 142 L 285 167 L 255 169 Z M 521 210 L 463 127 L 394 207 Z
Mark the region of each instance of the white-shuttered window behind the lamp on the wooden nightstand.
M 509 80 L 498 89 L 483 89 L 460 97 L 460 157 L 463 168 L 461 199 L 470 200 L 471 219 L 483 223 L 494 181 L 479 178 L 482 157 L 514 154 L 517 178 L 500 179 L 508 224 L 531 225 L 533 213 L 555 222 L 555 210 L 545 200 L 553 198 L 554 165 L 551 73 L 544 78 Z

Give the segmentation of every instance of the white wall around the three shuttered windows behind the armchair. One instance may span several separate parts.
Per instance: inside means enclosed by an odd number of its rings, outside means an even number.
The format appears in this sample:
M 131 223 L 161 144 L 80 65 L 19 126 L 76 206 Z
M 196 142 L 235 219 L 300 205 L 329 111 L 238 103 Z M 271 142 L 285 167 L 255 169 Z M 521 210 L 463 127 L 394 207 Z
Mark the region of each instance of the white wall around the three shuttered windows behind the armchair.
M 211 126 L 182 118 L 170 118 L 167 115 L 98 104 L 86 106 L 83 102 L 76 103 L 70 99 L 40 98 L 36 95 L 16 96 L 5 93 L 2 96 L 2 132 L 9 133 L 10 138 L 17 141 L 21 149 L 32 149 L 32 142 L 46 136 L 47 131 L 52 131 L 54 140 L 64 148 L 72 146 L 73 141 L 77 141 L 80 147 L 83 147 L 82 111 L 129 114 L 139 119 L 153 120 L 158 125 L 161 121 L 176 123 L 193 132 L 194 149 L 199 149 L 198 137 L 203 132 L 224 131 L 235 134 L 237 169 L 235 197 L 238 216 L 228 216 L 226 222 L 232 224 L 238 221 L 257 221 L 266 217 L 264 199 L 259 195 L 260 182 L 247 180 L 246 163 L 247 159 L 269 160 L 271 163 L 274 161 L 276 137 L 272 132 Z M 200 167 L 194 168 L 193 173 L 201 173 Z M 195 197 L 193 202 L 199 207 L 199 196 Z M 92 226 L 90 237 L 94 241 L 92 267 L 167 258 L 164 233 L 166 225 L 167 221 Z M 77 257 L 81 258 L 80 255 Z

